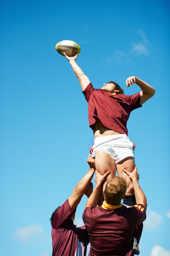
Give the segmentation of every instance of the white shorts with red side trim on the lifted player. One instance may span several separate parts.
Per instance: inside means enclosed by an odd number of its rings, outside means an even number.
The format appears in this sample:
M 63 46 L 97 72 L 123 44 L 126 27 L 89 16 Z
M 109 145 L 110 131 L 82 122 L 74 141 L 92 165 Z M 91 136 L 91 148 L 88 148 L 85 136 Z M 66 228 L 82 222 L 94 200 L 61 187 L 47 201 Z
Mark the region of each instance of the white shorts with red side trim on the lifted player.
M 96 138 L 90 147 L 90 153 L 94 158 L 98 151 L 104 151 L 113 157 L 117 164 L 126 157 L 134 157 L 134 149 L 135 143 L 130 141 L 126 134 L 109 135 Z

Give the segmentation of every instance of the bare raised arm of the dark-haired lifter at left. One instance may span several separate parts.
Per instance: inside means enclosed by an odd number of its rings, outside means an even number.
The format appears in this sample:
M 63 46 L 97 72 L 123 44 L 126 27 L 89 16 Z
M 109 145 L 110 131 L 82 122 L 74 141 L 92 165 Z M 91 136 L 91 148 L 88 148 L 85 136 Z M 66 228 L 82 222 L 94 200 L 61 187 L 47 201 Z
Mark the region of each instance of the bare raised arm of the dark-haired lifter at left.
M 84 193 L 88 196 L 89 194 L 88 190 L 91 190 L 91 180 L 95 173 L 95 159 L 89 156 L 87 159 L 87 162 L 90 166 L 89 171 L 78 182 L 78 184 L 73 189 L 73 192 L 71 193 L 70 197 L 68 198 L 68 202 L 73 211 L 76 209 Z

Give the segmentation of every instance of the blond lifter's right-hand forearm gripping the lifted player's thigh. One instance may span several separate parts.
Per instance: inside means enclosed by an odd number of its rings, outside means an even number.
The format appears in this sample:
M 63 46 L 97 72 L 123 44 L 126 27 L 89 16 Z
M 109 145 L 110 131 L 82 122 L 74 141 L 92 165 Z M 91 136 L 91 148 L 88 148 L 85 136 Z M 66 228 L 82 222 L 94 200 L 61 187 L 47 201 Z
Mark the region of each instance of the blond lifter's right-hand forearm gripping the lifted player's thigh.
M 128 175 L 130 180 L 133 183 L 133 188 L 135 192 L 135 198 L 137 204 L 143 204 L 145 209 L 147 208 L 147 200 L 146 195 L 142 191 L 141 187 L 139 186 L 138 180 L 139 180 L 139 173 L 137 172 L 137 166 L 135 166 L 134 171 L 132 173 L 128 172 L 126 169 L 123 170 L 124 173 Z

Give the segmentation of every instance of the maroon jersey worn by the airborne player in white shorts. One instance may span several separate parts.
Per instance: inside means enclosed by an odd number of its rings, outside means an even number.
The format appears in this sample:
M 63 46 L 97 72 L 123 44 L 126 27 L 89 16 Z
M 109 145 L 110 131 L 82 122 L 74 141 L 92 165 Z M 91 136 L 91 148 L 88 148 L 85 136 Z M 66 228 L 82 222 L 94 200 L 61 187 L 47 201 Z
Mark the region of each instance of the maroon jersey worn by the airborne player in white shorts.
M 110 95 L 102 89 L 94 89 L 89 83 L 83 94 L 88 101 L 88 121 L 93 130 L 96 118 L 110 130 L 128 135 L 127 121 L 130 112 L 140 108 L 140 92 L 131 96 L 125 94 Z

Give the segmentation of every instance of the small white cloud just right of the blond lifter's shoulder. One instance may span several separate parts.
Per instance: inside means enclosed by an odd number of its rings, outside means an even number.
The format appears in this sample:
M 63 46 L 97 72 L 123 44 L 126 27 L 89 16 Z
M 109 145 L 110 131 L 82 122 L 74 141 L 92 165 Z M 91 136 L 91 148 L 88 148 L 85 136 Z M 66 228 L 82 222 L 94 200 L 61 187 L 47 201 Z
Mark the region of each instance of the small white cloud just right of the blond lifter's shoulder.
M 162 222 L 162 216 L 155 211 L 150 211 L 146 214 L 146 220 L 144 222 L 144 231 L 155 230 Z

